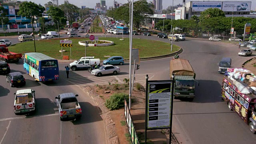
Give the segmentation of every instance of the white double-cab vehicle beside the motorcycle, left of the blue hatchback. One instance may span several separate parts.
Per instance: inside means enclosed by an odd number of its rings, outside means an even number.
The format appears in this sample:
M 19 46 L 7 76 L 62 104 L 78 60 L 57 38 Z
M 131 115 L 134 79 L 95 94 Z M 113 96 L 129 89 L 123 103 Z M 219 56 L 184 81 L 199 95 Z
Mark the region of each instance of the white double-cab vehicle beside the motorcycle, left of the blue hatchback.
M 96 62 L 97 66 L 100 67 L 100 59 L 94 58 L 94 56 L 86 56 L 82 57 L 79 60 L 76 60 L 69 64 L 71 70 L 81 69 L 81 68 L 90 68 L 94 62 Z

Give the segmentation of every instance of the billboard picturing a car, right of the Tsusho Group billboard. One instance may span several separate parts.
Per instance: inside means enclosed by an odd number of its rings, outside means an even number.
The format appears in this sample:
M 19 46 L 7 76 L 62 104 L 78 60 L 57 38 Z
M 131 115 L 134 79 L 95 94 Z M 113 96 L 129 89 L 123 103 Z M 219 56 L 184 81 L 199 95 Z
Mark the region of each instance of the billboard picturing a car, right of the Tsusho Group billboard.
M 222 2 L 224 12 L 250 12 L 252 2 Z

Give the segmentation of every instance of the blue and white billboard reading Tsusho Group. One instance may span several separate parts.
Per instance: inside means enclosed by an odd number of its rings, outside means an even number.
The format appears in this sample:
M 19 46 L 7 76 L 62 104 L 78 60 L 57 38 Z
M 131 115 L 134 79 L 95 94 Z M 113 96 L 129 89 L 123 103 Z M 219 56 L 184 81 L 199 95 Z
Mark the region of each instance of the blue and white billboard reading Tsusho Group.
M 222 2 L 192 2 L 192 12 L 203 12 L 208 8 L 218 8 L 221 10 Z

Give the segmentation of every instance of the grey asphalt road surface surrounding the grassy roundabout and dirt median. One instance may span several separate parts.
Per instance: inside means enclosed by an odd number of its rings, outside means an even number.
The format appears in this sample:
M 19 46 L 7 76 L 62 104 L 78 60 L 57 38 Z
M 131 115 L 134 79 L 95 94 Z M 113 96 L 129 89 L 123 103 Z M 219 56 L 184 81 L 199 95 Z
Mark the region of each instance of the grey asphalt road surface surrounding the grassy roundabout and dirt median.
M 99 36 L 104 36 L 103 34 Z M 110 36 L 108 34 L 108 36 Z M 113 35 L 112 35 L 113 36 Z M 121 35 L 118 35 L 120 37 Z M 122 36 L 121 36 L 122 37 Z M 126 37 L 124 35 L 124 37 Z M 169 42 L 168 39 L 156 36 L 134 36 Z M 14 41 L 10 38 L 11 41 Z M 218 74 L 218 63 L 222 57 L 232 58 L 232 67 L 240 67 L 246 60 L 255 56 L 238 56 L 238 46 L 219 42 L 187 39 L 184 42 L 174 42 L 184 51 L 180 58 L 190 61 L 196 72 L 196 97 L 192 102 L 174 100 L 173 132 L 182 144 L 254 144 L 256 136 L 250 133 L 248 126 L 221 100 L 222 74 Z M 150 80 L 169 80 L 169 58 L 140 62 L 140 69 L 136 71 L 136 80 L 144 84 L 145 75 Z M 53 83 L 33 82 L 25 74 L 27 85 L 25 88 L 36 90 L 38 112 L 36 116 L 16 116 L 13 113 L 13 93 L 17 89 L 10 88 L 4 76 L 0 76 L 0 140 L 4 143 L 74 143 L 82 140 L 92 144 L 106 141 L 104 123 L 100 111 L 90 97 L 86 96 L 77 85 L 107 84 L 113 78 L 122 82 L 128 78 L 129 64 L 120 66 L 121 72 L 117 76 L 107 75 L 98 78 L 86 70 L 71 71 L 70 78 L 65 78 L 64 66 L 59 64 L 60 80 Z M 10 64 L 12 72 L 22 70 L 22 62 Z M 83 117 L 80 122 L 60 122 L 54 97 L 60 93 L 74 92 L 79 94 L 82 102 Z M 42 107 L 42 108 L 41 108 Z M 88 141 L 89 140 L 89 141 Z M 98 141 L 96 141 L 98 140 Z M 105 141 L 104 141 L 105 140 Z

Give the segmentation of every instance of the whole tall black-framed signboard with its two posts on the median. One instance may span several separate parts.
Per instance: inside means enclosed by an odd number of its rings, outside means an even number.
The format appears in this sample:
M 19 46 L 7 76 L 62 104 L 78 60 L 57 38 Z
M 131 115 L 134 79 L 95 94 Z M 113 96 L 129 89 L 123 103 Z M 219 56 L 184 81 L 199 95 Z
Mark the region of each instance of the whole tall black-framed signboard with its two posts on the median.
M 147 130 L 170 128 L 172 132 L 173 95 L 173 80 L 149 81 L 146 75 L 145 144 Z

